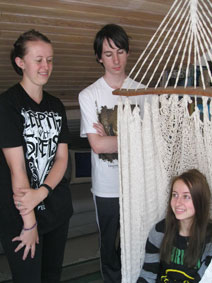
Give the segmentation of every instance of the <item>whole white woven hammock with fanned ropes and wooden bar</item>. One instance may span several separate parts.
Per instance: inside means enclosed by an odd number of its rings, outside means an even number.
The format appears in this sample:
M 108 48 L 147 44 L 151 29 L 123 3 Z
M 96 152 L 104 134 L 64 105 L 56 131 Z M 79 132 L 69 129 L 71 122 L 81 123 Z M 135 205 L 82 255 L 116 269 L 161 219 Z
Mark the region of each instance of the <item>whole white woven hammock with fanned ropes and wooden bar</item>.
M 211 19 L 211 0 L 175 0 L 129 74 L 138 80 L 139 74 L 144 73 L 140 83 L 150 78 L 146 87 L 132 90 L 129 85 L 128 89 L 114 91 L 121 96 L 160 94 L 152 95 L 151 103 L 149 100 L 144 103 L 142 117 L 139 107 L 131 110 L 128 98 L 119 102 L 122 283 L 135 283 L 139 277 L 149 230 L 165 215 L 171 178 L 197 168 L 212 184 L 212 102 L 209 98 L 212 91 L 207 88 L 207 80 L 212 82 L 208 64 L 212 61 Z M 201 57 L 206 67 L 202 66 Z M 191 65 L 192 87 L 189 86 Z M 151 66 L 155 66 L 154 70 Z M 169 74 L 165 76 L 167 69 Z M 159 77 L 157 70 L 161 72 Z M 182 70 L 184 86 L 179 88 Z M 198 70 L 202 87 L 198 86 Z M 170 88 L 168 84 L 174 72 L 176 80 Z M 155 86 L 150 88 L 153 81 Z M 163 88 L 159 87 L 161 81 Z M 192 102 L 190 95 L 195 97 L 192 113 L 188 110 Z M 201 97 L 201 110 L 197 96 Z M 201 282 L 212 282 L 211 270 L 212 265 Z

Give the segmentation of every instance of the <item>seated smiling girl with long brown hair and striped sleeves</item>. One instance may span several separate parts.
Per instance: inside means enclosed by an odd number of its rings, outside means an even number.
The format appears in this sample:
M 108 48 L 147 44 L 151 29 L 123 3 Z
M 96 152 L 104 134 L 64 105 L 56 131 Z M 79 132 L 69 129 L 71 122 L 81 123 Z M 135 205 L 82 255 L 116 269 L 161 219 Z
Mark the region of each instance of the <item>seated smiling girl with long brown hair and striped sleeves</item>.
M 212 258 L 211 194 L 189 170 L 172 181 L 166 218 L 150 231 L 137 282 L 199 282 Z

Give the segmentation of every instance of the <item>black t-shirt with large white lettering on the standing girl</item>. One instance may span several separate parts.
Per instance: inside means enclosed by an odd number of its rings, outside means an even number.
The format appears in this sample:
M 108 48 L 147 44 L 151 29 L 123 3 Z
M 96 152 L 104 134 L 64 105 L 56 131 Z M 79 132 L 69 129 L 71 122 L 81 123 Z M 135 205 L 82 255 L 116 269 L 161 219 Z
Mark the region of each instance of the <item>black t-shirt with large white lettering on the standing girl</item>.
M 36 189 L 54 163 L 58 144 L 68 142 L 65 109 L 58 98 L 44 91 L 41 103 L 37 104 L 20 84 L 0 95 L 0 224 L 8 227 L 11 221 L 17 221 L 17 225 L 22 225 L 14 207 L 10 170 L 2 148 L 23 146 L 29 183 Z M 41 233 L 71 216 L 71 196 L 65 178 L 35 213 Z

